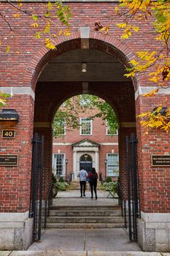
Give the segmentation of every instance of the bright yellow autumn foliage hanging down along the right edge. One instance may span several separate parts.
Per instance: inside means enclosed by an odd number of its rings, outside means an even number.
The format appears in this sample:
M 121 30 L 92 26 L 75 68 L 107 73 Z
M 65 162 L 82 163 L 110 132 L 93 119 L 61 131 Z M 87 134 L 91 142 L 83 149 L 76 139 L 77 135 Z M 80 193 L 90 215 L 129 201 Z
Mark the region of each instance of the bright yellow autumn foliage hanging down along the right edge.
M 123 18 L 123 22 L 115 23 L 115 16 Z M 152 34 L 155 42 L 159 42 L 161 48 L 154 51 L 139 51 L 136 53 L 136 59 L 129 62 L 127 68 L 127 78 L 133 78 L 136 74 L 144 73 L 147 78 L 154 83 L 156 87 L 144 97 L 153 97 L 160 89 L 167 89 L 170 86 L 170 56 L 169 56 L 169 38 L 170 38 L 170 1 L 168 0 L 120 0 L 119 7 L 115 7 L 115 12 L 108 20 L 107 26 L 96 22 L 95 30 L 109 33 L 111 26 L 117 26 L 123 31 L 120 39 L 125 40 L 132 34 L 139 31 L 139 26 L 134 25 L 134 21 L 144 23 L 152 18 Z M 150 68 L 152 67 L 152 71 Z M 170 129 L 170 108 L 158 106 L 152 112 L 142 113 L 142 125 L 146 129 L 161 128 L 169 132 Z

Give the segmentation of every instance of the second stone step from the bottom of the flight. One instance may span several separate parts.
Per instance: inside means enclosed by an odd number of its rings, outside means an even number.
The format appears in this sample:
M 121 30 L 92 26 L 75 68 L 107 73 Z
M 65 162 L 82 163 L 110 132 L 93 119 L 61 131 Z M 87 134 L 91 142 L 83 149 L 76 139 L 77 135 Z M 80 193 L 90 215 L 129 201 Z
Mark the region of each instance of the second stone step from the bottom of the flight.
M 123 217 L 48 217 L 49 223 L 119 223 Z

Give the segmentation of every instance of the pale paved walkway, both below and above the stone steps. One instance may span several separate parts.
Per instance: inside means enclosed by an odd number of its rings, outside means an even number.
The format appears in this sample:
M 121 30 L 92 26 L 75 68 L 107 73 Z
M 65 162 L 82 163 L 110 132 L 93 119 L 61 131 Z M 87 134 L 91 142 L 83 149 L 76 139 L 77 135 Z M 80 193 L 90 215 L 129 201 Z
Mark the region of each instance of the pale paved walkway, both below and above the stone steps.
M 80 191 L 58 192 L 53 205 L 58 206 L 112 206 L 117 200 L 98 191 L 98 200 L 90 198 L 90 191 L 80 198 Z M 106 229 L 48 229 L 42 240 L 27 251 L 0 252 L 0 256 L 170 256 L 170 253 L 141 252 L 139 246 L 128 240 L 123 228 Z

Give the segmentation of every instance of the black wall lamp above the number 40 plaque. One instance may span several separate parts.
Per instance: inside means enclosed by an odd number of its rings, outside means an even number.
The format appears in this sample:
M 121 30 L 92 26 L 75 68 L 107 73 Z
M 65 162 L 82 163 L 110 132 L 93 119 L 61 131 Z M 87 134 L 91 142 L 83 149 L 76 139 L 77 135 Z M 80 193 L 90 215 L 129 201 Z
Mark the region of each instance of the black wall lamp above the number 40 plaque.
M 18 113 L 15 109 L 3 109 L 0 113 L 0 121 L 2 122 L 12 122 L 12 124 L 19 121 Z

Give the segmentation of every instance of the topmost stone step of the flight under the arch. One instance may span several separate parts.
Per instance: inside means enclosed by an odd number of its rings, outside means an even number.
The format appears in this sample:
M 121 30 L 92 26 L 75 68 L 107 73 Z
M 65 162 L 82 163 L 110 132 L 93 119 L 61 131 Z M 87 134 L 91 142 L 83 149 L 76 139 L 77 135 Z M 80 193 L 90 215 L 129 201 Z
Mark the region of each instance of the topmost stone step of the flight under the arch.
M 50 211 L 120 211 L 120 206 L 58 206 L 53 205 Z

